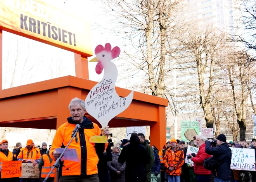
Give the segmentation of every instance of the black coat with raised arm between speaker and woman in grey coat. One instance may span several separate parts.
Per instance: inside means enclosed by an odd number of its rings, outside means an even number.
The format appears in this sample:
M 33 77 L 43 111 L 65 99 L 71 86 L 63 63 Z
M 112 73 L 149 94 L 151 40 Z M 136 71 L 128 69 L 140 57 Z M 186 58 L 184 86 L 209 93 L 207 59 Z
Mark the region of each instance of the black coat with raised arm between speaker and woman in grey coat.
M 100 182 L 109 182 L 109 169 L 107 167 L 107 162 L 112 161 L 112 155 L 111 155 L 111 146 L 107 146 L 107 152 L 102 153 L 99 156 L 99 163 L 97 165 L 98 167 L 98 176 Z

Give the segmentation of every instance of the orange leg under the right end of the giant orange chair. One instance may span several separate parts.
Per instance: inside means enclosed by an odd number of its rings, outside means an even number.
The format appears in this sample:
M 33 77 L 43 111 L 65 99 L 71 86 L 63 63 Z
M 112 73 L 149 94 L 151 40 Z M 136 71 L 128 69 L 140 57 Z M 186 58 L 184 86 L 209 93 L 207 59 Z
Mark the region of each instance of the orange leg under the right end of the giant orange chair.
M 165 106 L 158 106 L 158 121 L 150 124 L 150 146 L 162 150 L 166 145 Z

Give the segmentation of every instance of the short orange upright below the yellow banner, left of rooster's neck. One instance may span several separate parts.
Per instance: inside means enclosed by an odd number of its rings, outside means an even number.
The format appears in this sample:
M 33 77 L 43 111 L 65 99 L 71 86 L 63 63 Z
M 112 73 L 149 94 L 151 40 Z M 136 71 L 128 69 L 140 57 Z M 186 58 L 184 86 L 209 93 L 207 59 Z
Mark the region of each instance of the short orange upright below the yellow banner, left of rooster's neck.
M 86 56 L 74 53 L 76 77 L 89 80 L 88 59 Z

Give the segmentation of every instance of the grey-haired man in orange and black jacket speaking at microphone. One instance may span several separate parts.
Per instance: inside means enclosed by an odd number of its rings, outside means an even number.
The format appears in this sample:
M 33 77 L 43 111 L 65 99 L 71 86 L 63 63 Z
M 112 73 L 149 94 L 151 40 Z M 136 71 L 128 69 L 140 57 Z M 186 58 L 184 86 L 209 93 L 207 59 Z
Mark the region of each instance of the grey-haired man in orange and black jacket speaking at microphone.
M 99 182 L 97 163 L 99 162 L 98 154 L 104 152 L 107 148 L 105 143 L 90 143 L 89 138 L 95 135 L 109 135 L 109 126 L 104 129 L 92 121 L 85 114 L 85 102 L 81 99 L 74 98 L 69 104 L 71 117 L 67 122 L 62 124 L 56 131 L 50 156 L 53 160 L 59 158 L 61 153 L 57 153 L 56 148 L 64 148 L 71 139 L 71 134 L 76 126 L 80 124 L 77 133 L 78 142 L 75 139 L 71 141 L 69 148 L 76 149 L 80 162 L 64 160 L 62 164 L 62 176 L 60 182 Z

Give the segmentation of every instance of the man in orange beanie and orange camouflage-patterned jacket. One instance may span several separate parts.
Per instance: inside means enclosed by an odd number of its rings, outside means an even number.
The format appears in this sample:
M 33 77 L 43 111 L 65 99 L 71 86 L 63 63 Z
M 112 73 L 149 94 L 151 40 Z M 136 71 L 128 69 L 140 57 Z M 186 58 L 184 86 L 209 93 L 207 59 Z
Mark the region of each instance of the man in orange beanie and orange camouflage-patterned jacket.
M 175 138 L 170 141 L 171 147 L 168 148 L 164 155 L 164 165 L 166 167 L 168 182 L 180 182 L 181 167 L 184 163 L 184 153 L 179 150 Z

